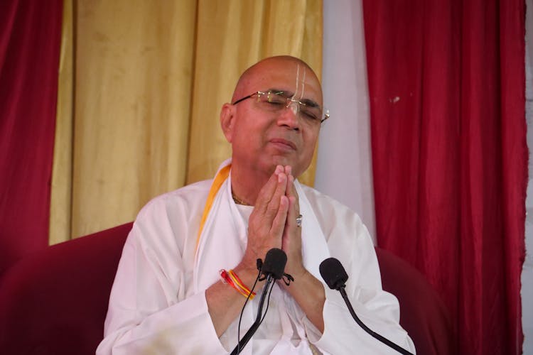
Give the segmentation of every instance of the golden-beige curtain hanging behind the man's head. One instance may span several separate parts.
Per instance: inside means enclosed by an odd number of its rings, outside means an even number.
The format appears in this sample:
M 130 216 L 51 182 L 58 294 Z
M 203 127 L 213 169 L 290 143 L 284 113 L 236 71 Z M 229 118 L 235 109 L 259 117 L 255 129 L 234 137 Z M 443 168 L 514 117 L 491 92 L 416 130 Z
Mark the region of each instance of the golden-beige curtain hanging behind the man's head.
M 320 74 L 321 53 L 322 1 L 65 0 L 50 243 L 212 178 L 239 74 L 281 54 Z

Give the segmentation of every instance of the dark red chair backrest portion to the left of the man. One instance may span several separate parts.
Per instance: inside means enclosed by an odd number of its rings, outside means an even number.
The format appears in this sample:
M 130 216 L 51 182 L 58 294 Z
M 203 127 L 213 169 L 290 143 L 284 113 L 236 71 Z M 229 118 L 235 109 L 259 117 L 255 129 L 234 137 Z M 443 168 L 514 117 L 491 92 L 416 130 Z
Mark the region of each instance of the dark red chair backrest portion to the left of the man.
M 1 354 L 95 354 L 131 223 L 26 256 L 0 280 Z

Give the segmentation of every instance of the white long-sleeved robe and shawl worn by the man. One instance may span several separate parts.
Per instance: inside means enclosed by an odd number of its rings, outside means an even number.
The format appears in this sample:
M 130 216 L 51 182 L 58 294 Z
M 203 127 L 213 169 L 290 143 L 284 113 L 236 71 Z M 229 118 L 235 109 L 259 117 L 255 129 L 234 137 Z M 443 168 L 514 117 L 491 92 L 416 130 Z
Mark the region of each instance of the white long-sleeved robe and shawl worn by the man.
M 238 317 L 219 339 L 205 290 L 219 280 L 221 268 L 237 266 L 244 255 L 252 207 L 235 205 L 226 180 L 197 246 L 211 183 L 169 192 L 141 209 L 124 244 L 97 354 L 227 354 L 235 347 Z M 350 276 L 346 292 L 362 322 L 414 352 L 399 326 L 396 297 L 382 290 L 374 247 L 360 218 L 311 187 L 296 187 L 304 266 L 321 280 L 321 261 L 338 258 Z M 297 280 L 290 287 L 297 287 Z M 255 320 L 259 291 L 244 310 L 241 337 Z M 338 291 L 325 286 L 325 296 L 321 334 L 292 297 L 274 285 L 265 320 L 241 354 L 396 353 L 355 323 Z

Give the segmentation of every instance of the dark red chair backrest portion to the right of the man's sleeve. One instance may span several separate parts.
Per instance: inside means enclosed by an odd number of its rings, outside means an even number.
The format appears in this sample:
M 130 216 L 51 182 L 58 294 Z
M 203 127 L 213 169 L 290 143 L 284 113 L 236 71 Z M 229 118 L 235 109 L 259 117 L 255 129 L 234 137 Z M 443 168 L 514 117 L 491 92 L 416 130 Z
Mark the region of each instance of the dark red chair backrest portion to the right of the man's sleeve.
M 448 309 L 424 275 L 389 251 L 376 248 L 376 253 L 383 289 L 398 298 L 400 324 L 416 354 L 456 354 Z

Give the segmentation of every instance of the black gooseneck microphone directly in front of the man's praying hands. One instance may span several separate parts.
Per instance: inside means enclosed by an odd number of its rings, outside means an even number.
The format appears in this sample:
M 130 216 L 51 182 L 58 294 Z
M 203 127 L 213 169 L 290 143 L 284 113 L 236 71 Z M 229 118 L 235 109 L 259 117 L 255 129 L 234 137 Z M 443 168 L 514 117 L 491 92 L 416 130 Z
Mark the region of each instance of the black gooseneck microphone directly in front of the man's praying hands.
M 263 305 L 264 300 L 266 298 L 266 293 L 268 293 L 269 288 L 271 288 L 270 285 L 274 280 L 279 280 L 284 276 L 285 265 L 287 263 L 287 254 L 281 249 L 272 248 L 266 252 L 266 256 L 264 257 L 264 263 L 262 263 L 262 265 L 260 261 L 261 259 L 257 259 L 257 268 L 259 269 L 259 273 L 261 275 L 264 275 L 266 281 L 264 283 L 261 299 L 259 300 L 257 317 L 255 319 L 254 324 L 252 324 L 252 327 L 250 327 L 250 329 L 248 329 L 248 332 L 244 334 L 244 337 L 239 340 L 237 346 L 235 346 L 235 349 L 233 349 L 231 355 L 239 354 L 244 348 L 244 346 L 248 343 L 249 339 L 252 339 L 252 335 L 255 334 L 257 328 L 259 328 L 259 324 L 261 324 L 262 322 Z

